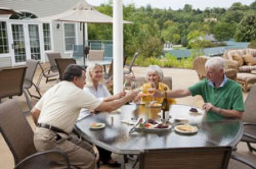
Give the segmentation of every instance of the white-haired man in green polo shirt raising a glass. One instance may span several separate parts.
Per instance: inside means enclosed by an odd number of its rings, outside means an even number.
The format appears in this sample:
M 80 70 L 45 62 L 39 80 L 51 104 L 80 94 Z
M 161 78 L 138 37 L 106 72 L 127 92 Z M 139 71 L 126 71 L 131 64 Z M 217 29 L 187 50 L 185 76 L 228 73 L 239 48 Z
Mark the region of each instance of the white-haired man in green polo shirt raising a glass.
M 222 57 L 210 58 L 205 63 L 206 77 L 188 89 L 166 91 L 168 98 L 201 95 L 202 108 L 208 120 L 221 120 L 224 117 L 241 119 L 245 110 L 241 86 L 225 75 L 225 60 Z M 156 97 L 164 97 L 164 92 L 156 91 Z

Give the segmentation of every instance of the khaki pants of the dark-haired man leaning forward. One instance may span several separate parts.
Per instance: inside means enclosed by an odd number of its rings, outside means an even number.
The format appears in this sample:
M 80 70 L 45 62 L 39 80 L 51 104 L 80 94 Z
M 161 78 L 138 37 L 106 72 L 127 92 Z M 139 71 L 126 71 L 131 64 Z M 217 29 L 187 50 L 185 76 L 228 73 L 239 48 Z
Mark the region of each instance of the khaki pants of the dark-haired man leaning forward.
M 57 134 L 61 138 L 57 137 Z M 92 146 L 76 136 L 67 136 L 66 134 L 55 133 L 48 129 L 36 128 L 34 145 L 38 151 L 54 148 L 64 151 L 70 160 L 71 168 L 95 168 L 96 162 Z M 63 158 L 56 159 L 55 157 L 54 161 L 66 164 Z

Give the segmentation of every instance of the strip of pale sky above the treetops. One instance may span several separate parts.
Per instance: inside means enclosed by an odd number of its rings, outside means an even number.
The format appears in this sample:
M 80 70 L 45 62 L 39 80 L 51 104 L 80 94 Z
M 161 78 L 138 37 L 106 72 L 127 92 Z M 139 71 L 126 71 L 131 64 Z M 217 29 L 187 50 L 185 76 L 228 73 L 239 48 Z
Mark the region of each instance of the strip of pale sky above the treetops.
M 109 0 L 86 0 L 94 6 L 99 6 L 100 3 L 108 3 Z M 123 0 L 124 5 L 135 3 L 136 7 L 147 6 L 150 4 L 153 8 L 172 10 L 182 9 L 185 4 L 192 5 L 193 9 L 204 10 L 206 7 L 224 7 L 229 8 L 234 2 L 241 2 L 243 5 L 250 5 L 255 0 Z

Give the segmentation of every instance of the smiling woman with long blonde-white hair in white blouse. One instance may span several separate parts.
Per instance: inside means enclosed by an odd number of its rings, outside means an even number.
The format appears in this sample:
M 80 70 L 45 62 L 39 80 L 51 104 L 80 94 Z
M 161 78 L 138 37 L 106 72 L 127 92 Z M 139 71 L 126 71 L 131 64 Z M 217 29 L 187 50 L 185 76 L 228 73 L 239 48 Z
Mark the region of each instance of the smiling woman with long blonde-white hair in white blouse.
M 86 69 L 86 86 L 84 90 L 91 92 L 96 98 L 102 99 L 105 102 L 119 99 L 125 96 L 125 92 L 120 92 L 116 95 L 111 95 L 103 83 L 103 67 L 99 64 L 89 64 Z M 121 164 L 111 158 L 111 152 L 101 147 L 97 147 L 100 153 L 100 160 L 110 167 L 120 167 Z

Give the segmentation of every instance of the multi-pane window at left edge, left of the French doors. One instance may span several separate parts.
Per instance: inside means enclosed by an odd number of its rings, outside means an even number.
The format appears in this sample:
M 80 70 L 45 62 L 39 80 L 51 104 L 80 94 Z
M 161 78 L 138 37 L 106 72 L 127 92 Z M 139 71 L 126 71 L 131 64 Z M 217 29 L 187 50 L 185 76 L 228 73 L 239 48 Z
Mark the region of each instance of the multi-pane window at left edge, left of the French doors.
M 0 22 L 0 53 L 9 53 L 6 22 Z

